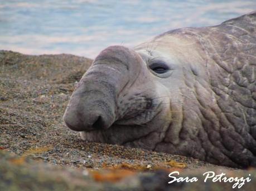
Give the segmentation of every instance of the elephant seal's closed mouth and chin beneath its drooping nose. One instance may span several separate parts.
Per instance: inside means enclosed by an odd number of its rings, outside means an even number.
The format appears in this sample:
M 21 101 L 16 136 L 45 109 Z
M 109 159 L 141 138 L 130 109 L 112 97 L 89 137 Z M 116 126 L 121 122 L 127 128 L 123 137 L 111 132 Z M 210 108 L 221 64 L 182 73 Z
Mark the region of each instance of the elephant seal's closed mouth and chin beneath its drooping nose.
M 93 129 L 84 129 L 81 131 L 80 137 L 86 142 L 97 143 L 110 143 L 123 145 L 128 142 L 143 137 L 147 134 L 147 130 L 150 130 L 157 121 L 157 116 L 161 110 L 161 102 L 158 104 L 150 104 L 151 109 L 139 109 L 139 112 L 134 116 L 132 111 L 125 118 L 118 118 L 108 128 L 102 127 L 102 118 L 94 122 Z M 152 131 L 152 130 L 151 130 Z M 135 138 L 134 138 L 135 137 Z

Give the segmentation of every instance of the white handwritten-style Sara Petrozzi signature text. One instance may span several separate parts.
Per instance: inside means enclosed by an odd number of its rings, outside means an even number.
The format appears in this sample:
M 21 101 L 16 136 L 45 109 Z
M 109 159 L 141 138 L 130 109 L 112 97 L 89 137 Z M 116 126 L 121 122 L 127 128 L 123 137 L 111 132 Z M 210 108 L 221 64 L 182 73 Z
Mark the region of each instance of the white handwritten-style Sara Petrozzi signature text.
M 172 176 L 173 174 L 177 174 L 180 175 L 180 172 L 178 171 L 174 171 L 171 172 L 168 177 L 172 178 L 172 180 L 170 182 L 168 182 L 168 184 L 171 184 L 173 182 L 187 182 L 187 183 L 192 183 L 192 182 L 197 182 L 198 178 L 197 177 L 175 177 Z M 250 182 L 252 179 L 250 179 L 250 174 L 248 175 L 247 178 L 244 177 L 226 177 L 225 173 L 221 173 L 221 174 L 215 174 L 215 172 L 213 171 L 209 171 L 209 172 L 205 172 L 204 174 L 204 182 L 207 181 L 212 181 L 212 182 L 230 182 L 233 183 L 232 188 L 241 188 L 243 187 L 243 185 L 245 184 L 245 182 Z

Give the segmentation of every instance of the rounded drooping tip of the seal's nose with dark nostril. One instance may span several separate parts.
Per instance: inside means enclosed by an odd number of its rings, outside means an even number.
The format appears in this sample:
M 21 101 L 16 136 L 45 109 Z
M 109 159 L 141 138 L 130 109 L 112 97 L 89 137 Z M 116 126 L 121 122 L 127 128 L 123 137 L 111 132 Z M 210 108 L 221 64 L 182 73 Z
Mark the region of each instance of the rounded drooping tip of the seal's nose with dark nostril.
M 100 110 L 89 112 L 67 109 L 64 114 L 67 127 L 76 131 L 107 129 L 112 124 L 112 119 Z

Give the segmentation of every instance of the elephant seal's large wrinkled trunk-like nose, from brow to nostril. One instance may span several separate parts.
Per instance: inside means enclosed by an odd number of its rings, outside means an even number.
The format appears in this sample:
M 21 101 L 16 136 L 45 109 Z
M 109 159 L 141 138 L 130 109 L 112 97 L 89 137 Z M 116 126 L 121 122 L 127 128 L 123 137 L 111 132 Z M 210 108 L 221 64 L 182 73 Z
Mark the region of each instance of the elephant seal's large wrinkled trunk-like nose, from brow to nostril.
M 138 73 L 136 52 L 112 46 L 103 50 L 77 84 L 64 114 L 66 125 L 76 131 L 107 129 L 118 118 L 117 98 Z M 140 65 L 138 65 L 140 66 Z

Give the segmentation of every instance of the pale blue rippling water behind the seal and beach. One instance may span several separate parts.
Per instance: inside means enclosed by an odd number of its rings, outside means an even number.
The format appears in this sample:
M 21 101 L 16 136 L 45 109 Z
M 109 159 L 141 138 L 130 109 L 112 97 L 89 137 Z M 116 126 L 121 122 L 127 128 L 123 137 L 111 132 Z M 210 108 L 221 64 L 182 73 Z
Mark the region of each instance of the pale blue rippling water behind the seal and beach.
M 181 27 L 219 24 L 256 9 L 255 0 L 0 0 L 0 49 L 94 58 Z

